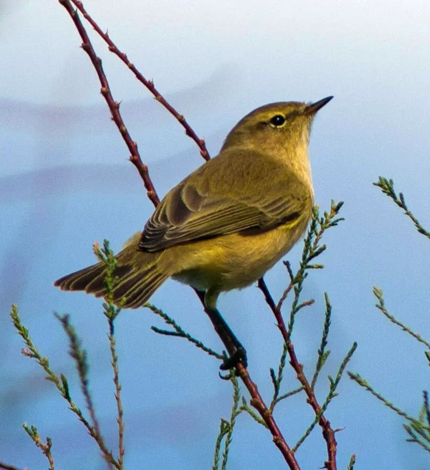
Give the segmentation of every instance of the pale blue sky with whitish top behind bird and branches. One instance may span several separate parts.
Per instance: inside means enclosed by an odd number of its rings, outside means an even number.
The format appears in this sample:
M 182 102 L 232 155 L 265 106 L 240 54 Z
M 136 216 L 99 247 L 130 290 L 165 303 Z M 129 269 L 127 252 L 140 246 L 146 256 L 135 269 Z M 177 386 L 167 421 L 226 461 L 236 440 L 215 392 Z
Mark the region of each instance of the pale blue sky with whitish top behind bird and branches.
M 372 182 L 379 175 L 393 178 L 418 219 L 430 226 L 430 4 L 92 0 L 85 5 L 206 139 L 213 156 L 229 129 L 252 109 L 334 95 L 315 120 L 310 157 L 318 204 L 325 210 L 330 199 L 343 200 L 346 220 L 327 233 L 328 249 L 320 260 L 325 269 L 306 280 L 303 300 L 316 303 L 301 312 L 293 342 L 311 374 L 327 291 L 333 304 L 332 354 L 317 387 L 320 402 L 327 374 L 336 374 L 357 340 L 347 369 L 416 415 L 428 384 L 423 349 L 378 313 L 372 286 L 384 290 L 390 312 L 429 338 L 430 250 L 428 240 Z M 199 151 L 101 40 L 91 37 L 163 196 L 202 164 Z M 56 372 L 68 376 L 72 396 L 84 406 L 66 338 L 52 312 L 71 315 L 88 351 L 102 431 L 114 447 L 114 389 L 101 302 L 60 292 L 52 283 L 92 264 L 94 241 L 108 238 L 119 249 L 152 211 L 80 44 L 58 2 L 0 3 L 0 460 L 21 468 L 47 467 L 22 430 L 23 421 L 53 439 L 56 467 L 105 464 L 52 383 L 19 354 L 22 343 L 9 318 L 10 304 L 18 304 L 34 343 Z M 288 254 L 293 268 L 301 249 L 300 244 Z M 281 263 L 266 282 L 279 298 L 287 284 Z M 191 289 L 168 281 L 152 301 L 208 346 L 221 349 Z M 282 341 L 261 292 L 251 286 L 222 295 L 219 307 L 246 346 L 251 377 L 269 401 L 269 367 L 278 366 Z M 153 324 L 163 327 L 145 310 L 124 311 L 116 322 L 126 467 L 211 468 L 219 419 L 230 413 L 231 387 L 219 379 L 214 359 L 184 340 L 153 333 Z M 283 390 L 296 387 L 294 375 L 286 373 Z M 405 442 L 402 418 L 346 376 L 338 392 L 326 414 L 333 428 L 344 428 L 336 435 L 338 468 L 346 468 L 352 453 L 357 469 L 428 468 L 428 454 Z M 243 393 L 248 398 L 244 387 Z M 313 419 L 300 395 L 280 404 L 275 417 L 290 445 Z M 319 428 L 297 459 L 303 469 L 323 465 Z M 241 415 L 228 468 L 244 466 L 285 463 L 270 435 Z

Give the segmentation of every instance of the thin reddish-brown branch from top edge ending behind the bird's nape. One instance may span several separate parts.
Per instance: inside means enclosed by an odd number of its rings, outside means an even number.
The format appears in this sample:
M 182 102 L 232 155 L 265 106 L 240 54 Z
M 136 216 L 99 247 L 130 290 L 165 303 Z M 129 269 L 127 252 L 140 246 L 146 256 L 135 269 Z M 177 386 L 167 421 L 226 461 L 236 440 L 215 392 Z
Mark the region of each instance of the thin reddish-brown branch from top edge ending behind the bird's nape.
M 114 44 L 114 42 L 110 39 L 109 34 L 107 32 L 103 32 L 100 26 L 91 18 L 88 12 L 85 10 L 84 5 L 80 0 L 70 0 L 71 3 L 82 13 L 84 18 L 91 24 L 91 26 L 95 29 L 97 34 L 106 42 L 108 45 L 109 51 L 113 52 L 116 56 L 118 56 L 126 65 L 127 67 L 134 73 L 135 77 L 144 84 L 144 86 L 152 93 L 154 98 L 161 103 L 183 126 L 185 129 L 185 134 L 190 137 L 200 149 L 200 154 L 205 160 L 209 160 L 209 152 L 206 148 L 206 143 L 204 139 L 200 139 L 199 136 L 194 132 L 192 127 L 188 124 L 185 117 L 180 114 L 164 97 L 163 95 L 155 88 L 154 82 L 152 80 L 147 80 L 135 67 L 133 62 L 129 60 L 127 54 L 120 51 L 118 47 Z

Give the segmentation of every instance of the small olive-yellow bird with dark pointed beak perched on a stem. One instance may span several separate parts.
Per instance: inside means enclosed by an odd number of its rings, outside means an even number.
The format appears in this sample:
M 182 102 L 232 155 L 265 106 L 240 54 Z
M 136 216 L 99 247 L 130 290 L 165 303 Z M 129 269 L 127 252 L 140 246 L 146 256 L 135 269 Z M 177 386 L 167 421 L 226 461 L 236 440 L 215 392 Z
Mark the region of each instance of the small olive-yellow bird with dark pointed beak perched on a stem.
M 310 128 L 332 98 L 270 103 L 243 117 L 116 254 L 114 303 L 142 307 L 173 278 L 204 292 L 214 312 L 221 292 L 249 286 L 284 257 L 311 218 Z M 54 285 L 102 297 L 105 273 L 96 263 Z

